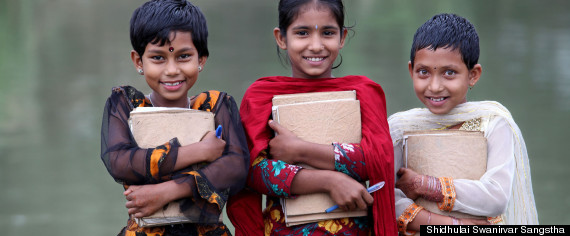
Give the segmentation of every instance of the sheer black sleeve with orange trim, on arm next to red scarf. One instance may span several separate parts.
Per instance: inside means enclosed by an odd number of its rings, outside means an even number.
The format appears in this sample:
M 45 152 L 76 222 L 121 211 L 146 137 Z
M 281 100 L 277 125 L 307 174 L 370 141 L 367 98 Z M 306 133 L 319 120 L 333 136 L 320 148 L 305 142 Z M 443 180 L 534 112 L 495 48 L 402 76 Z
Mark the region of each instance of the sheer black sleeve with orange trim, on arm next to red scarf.
M 220 97 L 214 110 L 216 126 L 222 125 L 222 138 L 226 141 L 222 156 L 198 169 L 186 169 L 173 176 L 177 183 L 188 184 L 193 191 L 191 199 L 183 200 L 181 210 L 186 216 L 200 217 L 201 222 L 218 220 L 229 196 L 245 186 L 249 169 L 247 141 L 234 99 Z

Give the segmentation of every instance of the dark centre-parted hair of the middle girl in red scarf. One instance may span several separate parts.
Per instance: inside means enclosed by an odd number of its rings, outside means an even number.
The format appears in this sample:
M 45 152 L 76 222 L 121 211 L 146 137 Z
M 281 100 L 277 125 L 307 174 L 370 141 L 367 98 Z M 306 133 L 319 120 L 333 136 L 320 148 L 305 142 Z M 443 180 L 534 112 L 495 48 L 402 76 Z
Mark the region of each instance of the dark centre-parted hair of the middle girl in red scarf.
M 289 28 L 291 23 L 293 23 L 295 18 L 297 18 L 301 7 L 309 3 L 326 6 L 330 9 L 336 19 L 336 23 L 341 29 L 340 33 L 342 37 L 343 29 L 347 28 L 344 25 L 344 4 L 342 3 L 342 0 L 279 0 L 277 10 L 279 11 L 279 30 L 281 35 L 283 37 L 287 36 L 287 28 Z M 277 55 L 281 58 L 279 47 L 277 47 Z M 340 59 L 340 63 L 337 66 L 334 66 L 333 69 L 336 69 L 340 64 L 342 64 L 342 56 L 340 56 Z

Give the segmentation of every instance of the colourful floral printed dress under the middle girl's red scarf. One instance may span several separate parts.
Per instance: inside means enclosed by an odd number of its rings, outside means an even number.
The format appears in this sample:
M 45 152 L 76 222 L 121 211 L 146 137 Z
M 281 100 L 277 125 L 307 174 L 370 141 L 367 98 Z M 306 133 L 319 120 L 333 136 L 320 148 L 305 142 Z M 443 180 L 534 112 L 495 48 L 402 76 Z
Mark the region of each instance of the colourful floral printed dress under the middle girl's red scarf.
M 335 169 L 357 181 L 367 179 L 364 155 L 359 144 L 333 143 Z M 293 177 L 302 167 L 267 158 L 267 150 L 254 161 L 254 175 L 261 175 L 257 190 L 265 189 L 266 208 L 263 211 L 265 235 L 370 235 L 368 217 L 351 217 L 324 220 L 316 223 L 287 227 L 280 198 L 295 197 L 291 194 Z

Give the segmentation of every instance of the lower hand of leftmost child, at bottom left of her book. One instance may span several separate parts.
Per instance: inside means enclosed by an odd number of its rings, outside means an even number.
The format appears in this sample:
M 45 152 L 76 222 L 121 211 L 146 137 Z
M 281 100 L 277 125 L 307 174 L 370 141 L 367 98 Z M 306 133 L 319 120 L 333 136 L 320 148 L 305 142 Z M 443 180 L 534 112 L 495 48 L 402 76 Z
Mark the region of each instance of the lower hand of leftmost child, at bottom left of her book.
M 129 215 L 136 218 L 149 216 L 170 202 L 164 184 L 131 185 L 123 195 Z

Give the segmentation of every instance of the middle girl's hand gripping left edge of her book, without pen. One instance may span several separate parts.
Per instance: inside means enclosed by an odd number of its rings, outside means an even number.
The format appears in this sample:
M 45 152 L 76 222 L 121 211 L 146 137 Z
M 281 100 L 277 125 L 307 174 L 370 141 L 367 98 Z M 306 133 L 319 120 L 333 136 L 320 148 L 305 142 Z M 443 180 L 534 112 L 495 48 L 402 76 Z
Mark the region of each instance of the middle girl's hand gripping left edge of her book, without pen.
M 268 125 L 275 131 L 275 137 L 269 141 L 269 154 L 271 157 L 288 164 L 297 163 L 297 158 L 299 157 L 298 147 L 303 145 L 305 141 L 273 120 L 270 120 Z

